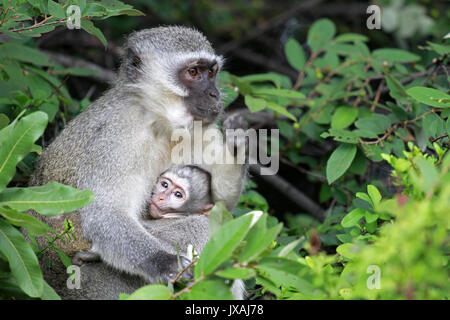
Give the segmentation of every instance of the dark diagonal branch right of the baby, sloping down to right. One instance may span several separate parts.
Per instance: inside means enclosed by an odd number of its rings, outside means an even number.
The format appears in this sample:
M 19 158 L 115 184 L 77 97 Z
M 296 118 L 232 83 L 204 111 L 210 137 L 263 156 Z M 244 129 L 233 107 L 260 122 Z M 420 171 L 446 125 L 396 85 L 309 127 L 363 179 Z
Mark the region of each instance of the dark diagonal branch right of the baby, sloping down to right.
M 250 171 L 253 174 L 259 175 L 261 171 L 261 165 L 251 164 Z M 323 209 L 314 201 L 312 201 L 307 195 L 298 190 L 294 185 L 286 181 L 284 178 L 279 175 L 261 175 L 260 177 L 261 179 L 278 189 L 287 198 L 292 200 L 292 202 L 297 204 L 297 206 L 309 212 L 316 219 L 323 221 Z

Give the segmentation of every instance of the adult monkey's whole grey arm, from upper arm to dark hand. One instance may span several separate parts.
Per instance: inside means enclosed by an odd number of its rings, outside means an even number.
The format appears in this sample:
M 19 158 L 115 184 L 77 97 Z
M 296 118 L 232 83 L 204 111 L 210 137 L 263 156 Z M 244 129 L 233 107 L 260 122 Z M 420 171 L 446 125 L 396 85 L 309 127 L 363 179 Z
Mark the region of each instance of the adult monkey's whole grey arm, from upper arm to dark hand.
M 139 222 L 145 206 L 145 179 L 115 175 L 108 179 L 90 176 L 82 189 L 94 192 L 94 202 L 80 210 L 82 228 L 104 262 L 149 281 L 167 281 L 178 272 L 176 250 Z M 189 264 L 180 256 L 181 267 Z

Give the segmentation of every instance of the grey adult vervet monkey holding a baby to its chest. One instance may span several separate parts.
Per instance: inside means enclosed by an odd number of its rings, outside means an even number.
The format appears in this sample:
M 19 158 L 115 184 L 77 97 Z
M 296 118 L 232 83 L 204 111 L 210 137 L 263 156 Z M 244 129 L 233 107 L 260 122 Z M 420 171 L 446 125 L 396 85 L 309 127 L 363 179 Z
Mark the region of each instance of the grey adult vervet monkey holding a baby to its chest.
M 204 35 L 185 27 L 132 33 L 125 52 L 117 81 L 44 150 L 31 184 L 57 181 L 94 192 L 93 203 L 78 212 L 43 217 L 57 231 L 64 218 L 74 223 L 77 240 L 57 243 L 67 254 L 92 244 L 115 269 L 146 281 L 167 281 L 178 271 L 176 252 L 143 226 L 142 213 L 153 182 L 172 165 L 173 130 L 190 130 L 194 120 L 205 129 L 216 126 L 222 58 Z M 244 166 L 204 167 L 211 173 L 213 200 L 231 210 L 243 188 Z M 195 233 L 196 228 L 180 232 Z M 190 237 L 185 234 L 187 243 Z M 180 258 L 182 266 L 189 263 L 184 255 Z

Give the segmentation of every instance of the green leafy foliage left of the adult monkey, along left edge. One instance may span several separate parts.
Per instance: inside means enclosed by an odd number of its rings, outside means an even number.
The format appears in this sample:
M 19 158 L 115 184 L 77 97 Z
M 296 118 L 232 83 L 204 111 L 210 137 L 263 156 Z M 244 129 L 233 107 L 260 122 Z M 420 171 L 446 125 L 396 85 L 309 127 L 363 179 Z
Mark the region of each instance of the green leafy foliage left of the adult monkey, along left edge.
M 35 142 L 44 133 L 47 123 L 65 121 L 80 111 L 81 103 L 71 98 L 60 76 L 93 74 L 89 69 L 63 68 L 33 46 L 33 37 L 66 25 L 70 14 L 66 9 L 70 5 L 81 8 L 81 28 L 98 37 L 104 45 L 105 37 L 91 20 L 141 14 L 120 1 L 2 1 L 0 32 L 9 39 L 0 43 L 1 299 L 59 299 L 44 281 L 37 257 L 44 250 L 54 249 L 63 263 L 71 264 L 54 242 L 73 237 L 73 227 L 66 220 L 65 230 L 56 233 L 24 212 L 32 209 L 43 215 L 58 215 L 77 210 L 92 202 L 94 197 L 89 190 L 59 183 L 8 187 L 13 179 L 20 180 L 32 172 L 30 159 L 42 150 Z M 32 241 L 25 240 L 16 227 L 26 230 Z M 45 248 L 37 247 L 34 241 L 37 235 L 48 239 Z

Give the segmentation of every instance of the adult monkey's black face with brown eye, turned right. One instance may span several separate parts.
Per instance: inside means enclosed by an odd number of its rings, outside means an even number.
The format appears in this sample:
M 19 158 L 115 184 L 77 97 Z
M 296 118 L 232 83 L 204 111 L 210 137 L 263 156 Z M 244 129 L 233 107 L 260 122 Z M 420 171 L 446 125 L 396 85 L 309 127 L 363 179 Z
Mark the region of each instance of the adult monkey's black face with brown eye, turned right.
M 181 84 L 189 90 L 189 96 L 184 99 L 195 120 L 212 122 L 222 109 L 220 92 L 216 87 L 218 70 L 216 61 L 200 59 L 179 71 Z

